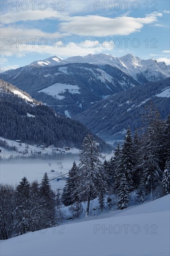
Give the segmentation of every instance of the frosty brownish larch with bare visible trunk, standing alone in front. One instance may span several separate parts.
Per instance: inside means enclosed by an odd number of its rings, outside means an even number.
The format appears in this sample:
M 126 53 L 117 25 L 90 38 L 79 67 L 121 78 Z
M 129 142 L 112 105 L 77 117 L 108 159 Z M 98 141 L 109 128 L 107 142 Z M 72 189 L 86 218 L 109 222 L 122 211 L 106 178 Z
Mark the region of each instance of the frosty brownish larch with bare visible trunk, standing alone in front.
M 92 135 L 86 135 L 80 153 L 77 194 L 80 202 L 87 200 L 86 215 L 89 215 L 90 201 L 106 191 L 106 177 L 99 159 L 98 143 Z

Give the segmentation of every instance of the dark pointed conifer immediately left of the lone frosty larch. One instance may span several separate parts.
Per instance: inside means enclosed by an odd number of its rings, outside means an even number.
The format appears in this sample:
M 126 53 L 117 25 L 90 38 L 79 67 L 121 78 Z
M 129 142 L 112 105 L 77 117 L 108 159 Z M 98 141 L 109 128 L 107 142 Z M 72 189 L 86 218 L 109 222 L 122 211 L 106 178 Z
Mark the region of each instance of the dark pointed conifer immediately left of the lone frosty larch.
M 78 195 L 76 195 L 76 188 L 78 183 L 78 167 L 76 162 L 73 162 L 72 168 L 68 173 L 65 187 L 62 194 L 62 202 L 65 206 L 69 206 L 78 202 Z

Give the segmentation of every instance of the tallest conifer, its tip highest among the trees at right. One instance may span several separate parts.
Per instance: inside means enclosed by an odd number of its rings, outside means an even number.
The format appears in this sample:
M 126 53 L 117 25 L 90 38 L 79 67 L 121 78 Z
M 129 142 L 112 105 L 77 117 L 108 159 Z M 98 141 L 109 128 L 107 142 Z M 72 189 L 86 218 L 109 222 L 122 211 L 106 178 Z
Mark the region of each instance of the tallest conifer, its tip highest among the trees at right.
M 161 169 L 159 166 L 159 140 L 157 134 L 157 111 L 154 109 L 153 103 L 150 102 L 146 108 L 148 112 L 145 116 L 147 125 L 143 136 L 142 147 L 140 150 L 139 168 L 142 169 L 142 184 L 150 195 L 150 200 L 153 200 L 153 191 L 156 189 L 161 180 Z

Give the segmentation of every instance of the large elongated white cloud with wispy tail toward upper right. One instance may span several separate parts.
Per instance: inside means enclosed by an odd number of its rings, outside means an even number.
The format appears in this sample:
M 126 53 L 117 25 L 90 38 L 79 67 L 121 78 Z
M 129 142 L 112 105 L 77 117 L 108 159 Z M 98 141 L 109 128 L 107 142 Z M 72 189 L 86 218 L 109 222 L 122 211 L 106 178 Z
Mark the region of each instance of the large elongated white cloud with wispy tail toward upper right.
M 117 17 L 107 18 L 98 15 L 67 17 L 59 24 L 60 31 L 81 36 L 129 35 L 140 31 L 144 24 L 157 21 L 162 13 L 150 13 L 144 18 Z M 90 24 L 90 25 L 89 25 Z

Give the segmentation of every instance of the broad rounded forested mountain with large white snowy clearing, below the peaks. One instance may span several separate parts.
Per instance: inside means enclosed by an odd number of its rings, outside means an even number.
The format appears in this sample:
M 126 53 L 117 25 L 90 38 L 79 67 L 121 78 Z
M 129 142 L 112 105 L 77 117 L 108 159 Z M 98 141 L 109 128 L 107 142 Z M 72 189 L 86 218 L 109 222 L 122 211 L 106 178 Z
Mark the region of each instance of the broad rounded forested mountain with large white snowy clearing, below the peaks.
M 68 117 L 110 95 L 139 85 L 129 74 L 108 64 L 102 67 L 88 63 L 31 65 L 8 70 L 1 73 L 0 78 Z

